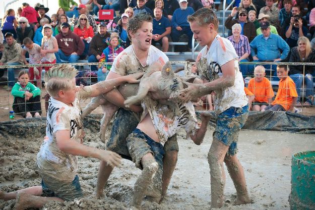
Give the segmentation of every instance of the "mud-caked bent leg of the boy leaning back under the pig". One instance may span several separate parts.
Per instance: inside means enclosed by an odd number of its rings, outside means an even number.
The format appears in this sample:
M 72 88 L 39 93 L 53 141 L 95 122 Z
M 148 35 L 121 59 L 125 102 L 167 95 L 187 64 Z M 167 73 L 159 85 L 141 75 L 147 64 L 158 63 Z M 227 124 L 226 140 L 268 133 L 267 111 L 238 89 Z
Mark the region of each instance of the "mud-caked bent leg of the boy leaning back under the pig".
M 151 183 L 152 177 L 159 168 L 159 165 L 155 161 L 152 153 L 145 154 L 141 159 L 141 164 L 143 166 L 143 170 L 134 187 L 133 205 L 137 208 L 140 208 L 141 201 Z

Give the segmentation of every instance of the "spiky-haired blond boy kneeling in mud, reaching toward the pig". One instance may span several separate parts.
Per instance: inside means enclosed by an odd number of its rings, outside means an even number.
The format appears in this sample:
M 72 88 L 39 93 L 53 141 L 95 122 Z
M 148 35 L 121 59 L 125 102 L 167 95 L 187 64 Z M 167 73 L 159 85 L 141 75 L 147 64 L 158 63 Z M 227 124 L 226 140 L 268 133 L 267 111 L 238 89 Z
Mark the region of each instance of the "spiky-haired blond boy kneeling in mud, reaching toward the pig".
M 77 70 L 70 65 L 53 67 L 45 74 L 45 88 L 51 97 L 46 136 L 37 154 L 41 186 L 10 193 L 0 191 L 0 199 L 17 198 L 15 209 L 40 208 L 47 202 L 64 202 L 82 197 L 77 155 L 97 158 L 111 167 L 121 162 L 121 157 L 115 152 L 82 144 L 84 132 L 80 100 L 108 92 L 123 82 L 136 83 L 142 73 L 88 87 L 77 87 L 76 75 Z

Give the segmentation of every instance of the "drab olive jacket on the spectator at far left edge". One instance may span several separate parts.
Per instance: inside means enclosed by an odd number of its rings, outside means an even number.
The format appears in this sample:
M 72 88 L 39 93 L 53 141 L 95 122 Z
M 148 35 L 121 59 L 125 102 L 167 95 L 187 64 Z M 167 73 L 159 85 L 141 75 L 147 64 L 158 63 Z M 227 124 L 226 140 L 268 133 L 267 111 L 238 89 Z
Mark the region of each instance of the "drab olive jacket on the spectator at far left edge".
M 13 44 L 10 46 L 8 43 L 5 43 L 5 49 L 2 54 L 0 62 L 7 65 L 8 63 L 19 62 L 24 64 L 22 59 L 22 47 L 16 40 L 13 41 Z

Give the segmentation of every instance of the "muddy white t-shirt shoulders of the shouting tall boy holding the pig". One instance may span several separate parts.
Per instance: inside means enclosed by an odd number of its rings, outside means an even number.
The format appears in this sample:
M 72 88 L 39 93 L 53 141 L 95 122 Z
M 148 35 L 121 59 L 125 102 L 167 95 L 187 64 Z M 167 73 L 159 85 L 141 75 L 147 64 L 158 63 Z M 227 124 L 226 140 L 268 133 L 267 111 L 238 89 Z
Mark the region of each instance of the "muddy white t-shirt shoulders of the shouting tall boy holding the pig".
M 121 76 L 145 72 L 149 65 L 156 61 L 164 66 L 164 64 L 168 62 L 168 57 L 161 50 L 151 45 L 149 48 L 147 64 L 146 66 L 143 66 L 136 56 L 133 45 L 130 45 L 115 58 L 110 71 L 120 74 Z

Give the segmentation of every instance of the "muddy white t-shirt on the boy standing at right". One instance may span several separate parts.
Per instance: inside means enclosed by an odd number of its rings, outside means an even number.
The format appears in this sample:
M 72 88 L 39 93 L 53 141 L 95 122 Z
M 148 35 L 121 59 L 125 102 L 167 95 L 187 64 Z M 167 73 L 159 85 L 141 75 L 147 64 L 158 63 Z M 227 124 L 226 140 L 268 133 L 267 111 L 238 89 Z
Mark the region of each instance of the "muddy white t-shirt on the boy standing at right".
M 232 43 L 217 35 L 209 50 L 205 46 L 197 58 L 197 69 L 202 78 L 210 82 L 222 77 L 221 66 L 234 61 L 235 82 L 231 87 L 215 90 L 215 112 L 220 114 L 230 107 L 244 107 L 248 100 L 244 92 L 244 81 L 238 66 L 238 56 Z

